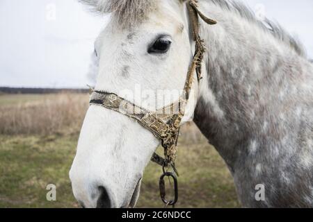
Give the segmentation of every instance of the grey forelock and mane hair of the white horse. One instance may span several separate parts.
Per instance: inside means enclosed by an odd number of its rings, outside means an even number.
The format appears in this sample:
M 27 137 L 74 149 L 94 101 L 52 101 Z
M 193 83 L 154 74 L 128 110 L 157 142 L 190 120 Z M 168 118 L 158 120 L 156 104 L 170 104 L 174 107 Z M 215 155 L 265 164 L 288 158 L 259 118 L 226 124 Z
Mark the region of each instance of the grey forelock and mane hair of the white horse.
M 152 10 L 157 9 L 158 0 L 79 0 L 89 6 L 96 12 L 112 13 L 113 19 L 124 27 L 137 24 L 143 21 Z M 172 1 L 172 0 L 171 0 Z M 182 2 L 186 0 L 180 0 Z M 294 49 L 299 56 L 306 56 L 303 44 L 296 38 L 292 37 L 277 22 L 273 22 L 267 18 L 260 21 L 255 17 L 255 13 L 241 1 L 234 0 L 198 0 L 210 1 L 216 6 L 235 12 L 237 15 L 247 19 L 262 28 L 264 31 L 271 33 L 275 38 Z

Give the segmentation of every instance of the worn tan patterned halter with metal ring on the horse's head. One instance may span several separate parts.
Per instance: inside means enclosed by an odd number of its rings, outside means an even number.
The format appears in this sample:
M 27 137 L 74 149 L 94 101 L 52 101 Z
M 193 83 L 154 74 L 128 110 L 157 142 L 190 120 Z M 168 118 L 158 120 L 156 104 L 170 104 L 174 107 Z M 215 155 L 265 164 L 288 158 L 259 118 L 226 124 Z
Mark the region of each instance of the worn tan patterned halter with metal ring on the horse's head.
M 190 23 L 192 25 L 193 40 L 195 41 L 195 54 L 191 65 L 188 68 L 186 83 L 184 85 L 184 93 L 180 96 L 176 103 L 172 103 L 166 107 L 161 108 L 155 112 L 145 110 L 144 108 L 135 105 L 121 98 L 117 94 L 110 92 L 103 92 L 99 90 L 93 91 L 90 97 L 90 105 L 100 105 L 109 110 L 114 110 L 125 114 L 127 117 L 138 121 L 144 128 L 150 130 L 155 137 L 161 140 L 164 148 L 164 158 L 154 153 L 152 155 L 152 162 L 156 162 L 163 167 L 163 174 L 159 180 L 160 194 L 163 203 L 174 206 L 177 202 L 177 170 L 175 168 L 175 159 L 177 154 L 177 139 L 179 136 L 179 127 L 184 117 L 186 104 L 191 92 L 191 85 L 193 84 L 193 74 L 196 71 L 198 83 L 202 78 L 201 65 L 205 46 L 203 40 L 199 35 L 199 17 L 207 24 L 216 24 L 216 21 L 205 17 L 198 9 L 197 0 L 188 0 L 186 3 Z M 175 110 L 173 113 L 172 111 Z M 173 169 L 172 172 L 168 168 Z M 164 178 L 170 177 L 174 180 L 175 198 L 174 200 L 166 200 L 166 189 Z

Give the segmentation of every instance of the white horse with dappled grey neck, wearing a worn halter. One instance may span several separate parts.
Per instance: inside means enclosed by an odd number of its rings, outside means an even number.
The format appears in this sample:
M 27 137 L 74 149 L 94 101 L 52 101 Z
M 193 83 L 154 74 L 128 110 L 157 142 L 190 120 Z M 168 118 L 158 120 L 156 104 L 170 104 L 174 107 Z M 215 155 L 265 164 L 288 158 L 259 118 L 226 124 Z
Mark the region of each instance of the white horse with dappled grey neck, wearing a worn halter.
M 193 58 L 186 1 L 84 0 L 111 22 L 95 42 L 95 89 L 147 110 L 169 104 L 159 90 L 182 91 Z M 229 167 L 244 207 L 313 207 L 313 65 L 280 26 L 241 3 L 200 0 L 208 48 L 183 121 L 194 121 Z M 196 77 L 195 77 L 196 78 Z M 138 92 L 147 90 L 143 96 Z M 175 94 L 173 99 L 178 99 Z M 159 139 L 119 112 L 90 105 L 70 170 L 84 207 L 134 207 L 143 170 Z M 262 185 L 265 195 L 255 198 Z M 261 186 L 261 187 L 262 187 Z M 157 194 L 156 194 L 157 195 Z

